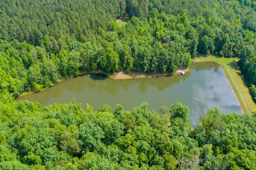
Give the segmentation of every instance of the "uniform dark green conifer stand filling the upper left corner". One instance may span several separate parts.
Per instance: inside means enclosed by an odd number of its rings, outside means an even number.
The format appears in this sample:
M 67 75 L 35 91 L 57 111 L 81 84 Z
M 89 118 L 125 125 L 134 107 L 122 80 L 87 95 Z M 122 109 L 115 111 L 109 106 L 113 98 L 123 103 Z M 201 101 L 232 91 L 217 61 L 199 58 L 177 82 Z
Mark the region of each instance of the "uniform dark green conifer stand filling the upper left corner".
M 50 52 L 54 41 L 45 35 L 54 36 L 61 47 L 62 38 L 85 41 L 99 26 L 109 29 L 110 21 L 123 16 L 125 8 L 125 0 L 1 1 L 0 38 L 26 40 L 33 45 L 43 40 Z

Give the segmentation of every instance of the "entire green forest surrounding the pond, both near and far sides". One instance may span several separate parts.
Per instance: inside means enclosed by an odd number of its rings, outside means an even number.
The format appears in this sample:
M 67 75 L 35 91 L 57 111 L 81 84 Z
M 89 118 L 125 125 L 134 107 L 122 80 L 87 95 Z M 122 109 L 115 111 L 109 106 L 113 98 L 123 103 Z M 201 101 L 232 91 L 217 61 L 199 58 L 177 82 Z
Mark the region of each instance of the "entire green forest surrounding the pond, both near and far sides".
M 256 0 L 0 1 L 0 170 L 256 170 L 256 113 L 215 108 L 193 128 L 180 102 L 15 101 L 85 73 L 172 73 L 197 53 L 239 57 L 256 100 Z

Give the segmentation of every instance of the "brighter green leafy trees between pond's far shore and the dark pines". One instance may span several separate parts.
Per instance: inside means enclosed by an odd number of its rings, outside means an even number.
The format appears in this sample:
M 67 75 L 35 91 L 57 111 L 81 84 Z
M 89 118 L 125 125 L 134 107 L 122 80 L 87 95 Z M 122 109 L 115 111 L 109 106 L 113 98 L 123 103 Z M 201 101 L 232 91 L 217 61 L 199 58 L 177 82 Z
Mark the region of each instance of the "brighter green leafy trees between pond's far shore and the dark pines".
M 18 97 L 30 87 L 40 91 L 61 76 L 81 72 L 174 72 L 189 66 L 198 34 L 187 16 L 160 14 L 156 9 L 149 14 L 148 20 L 132 17 L 121 28 L 112 22 L 111 31 L 99 27 L 92 42 L 61 44 L 45 35 L 42 45 L 34 47 L 25 41 L 1 40 L 2 81 L 9 82 L 1 86 Z

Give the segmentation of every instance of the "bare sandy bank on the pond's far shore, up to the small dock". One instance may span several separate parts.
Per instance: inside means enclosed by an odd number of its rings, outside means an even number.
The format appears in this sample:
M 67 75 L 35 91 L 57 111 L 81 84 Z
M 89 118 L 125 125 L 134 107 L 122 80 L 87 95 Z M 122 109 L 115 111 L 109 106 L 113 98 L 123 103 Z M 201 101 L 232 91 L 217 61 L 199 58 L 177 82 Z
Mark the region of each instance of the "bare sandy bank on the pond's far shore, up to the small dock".
M 188 71 L 189 68 L 179 68 L 175 73 L 144 73 L 144 72 L 136 72 L 132 71 L 130 73 L 126 73 L 124 71 L 118 72 L 118 73 L 113 73 L 112 75 L 109 76 L 111 79 L 138 79 L 138 78 L 151 78 L 151 77 L 162 77 L 162 76 L 167 76 L 167 75 L 173 75 L 177 74 L 182 71 L 186 72 Z

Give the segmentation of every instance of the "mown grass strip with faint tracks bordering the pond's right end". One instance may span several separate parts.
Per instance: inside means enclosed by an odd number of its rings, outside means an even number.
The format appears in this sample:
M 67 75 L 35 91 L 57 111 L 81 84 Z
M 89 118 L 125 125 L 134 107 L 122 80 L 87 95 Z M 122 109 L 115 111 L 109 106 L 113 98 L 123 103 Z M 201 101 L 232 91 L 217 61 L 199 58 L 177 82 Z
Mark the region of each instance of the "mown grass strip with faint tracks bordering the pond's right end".
M 198 55 L 197 59 L 199 59 L 200 62 L 215 62 L 222 66 L 244 113 L 252 114 L 252 112 L 256 111 L 256 104 L 254 103 L 245 79 L 237 66 L 236 62 L 239 60 L 238 58 L 206 57 L 204 55 Z

